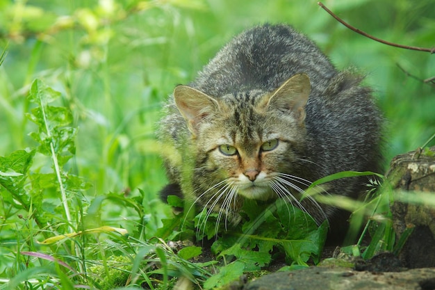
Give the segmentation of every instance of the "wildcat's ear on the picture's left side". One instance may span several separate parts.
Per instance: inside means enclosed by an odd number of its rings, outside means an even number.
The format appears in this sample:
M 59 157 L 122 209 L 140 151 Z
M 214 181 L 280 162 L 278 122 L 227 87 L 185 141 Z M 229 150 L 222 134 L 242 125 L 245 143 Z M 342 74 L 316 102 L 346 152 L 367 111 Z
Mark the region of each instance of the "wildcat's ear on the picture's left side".
M 174 89 L 174 100 L 194 137 L 197 135 L 199 123 L 219 108 L 213 97 L 189 86 L 177 86 Z

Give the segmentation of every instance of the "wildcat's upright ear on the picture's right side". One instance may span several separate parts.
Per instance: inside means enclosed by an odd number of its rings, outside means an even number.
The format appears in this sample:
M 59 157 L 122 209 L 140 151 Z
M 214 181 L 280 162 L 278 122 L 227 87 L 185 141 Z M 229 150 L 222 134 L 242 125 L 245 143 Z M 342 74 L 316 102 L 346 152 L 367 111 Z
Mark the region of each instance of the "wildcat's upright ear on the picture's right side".
M 266 108 L 292 112 L 299 122 L 305 120 L 305 105 L 310 95 L 309 76 L 295 74 L 272 92 Z

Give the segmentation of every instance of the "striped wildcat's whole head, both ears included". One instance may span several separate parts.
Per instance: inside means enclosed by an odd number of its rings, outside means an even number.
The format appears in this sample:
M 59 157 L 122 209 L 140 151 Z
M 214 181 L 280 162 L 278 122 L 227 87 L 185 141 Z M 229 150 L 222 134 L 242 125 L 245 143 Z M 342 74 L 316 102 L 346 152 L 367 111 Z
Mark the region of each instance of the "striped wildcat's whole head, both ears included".
M 284 191 L 276 180 L 295 170 L 304 146 L 309 91 L 306 74 L 274 92 L 212 97 L 188 86 L 174 90 L 195 147 L 192 183 L 199 202 L 229 207 L 237 196 L 268 200 Z

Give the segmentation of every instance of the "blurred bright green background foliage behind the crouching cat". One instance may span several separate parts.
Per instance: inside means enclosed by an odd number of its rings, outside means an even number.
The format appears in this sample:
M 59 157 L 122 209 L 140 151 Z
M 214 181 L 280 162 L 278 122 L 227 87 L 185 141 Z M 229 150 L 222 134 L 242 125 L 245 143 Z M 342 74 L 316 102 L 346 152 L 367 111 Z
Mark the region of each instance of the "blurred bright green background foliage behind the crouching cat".
M 378 38 L 435 46 L 432 0 L 323 3 Z M 0 67 L 0 155 L 35 146 L 27 136 L 34 124 L 25 117 L 26 95 L 40 78 L 62 92 L 62 105 L 74 114 L 77 151 L 67 170 L 92 183 L 87 194 L 141 188 L 153 207 L 165 184 L 165 152 L 154 134 L 162 102 L 233 35 L 263 22 L 292 24 L 339 69 L 368 74 L 388 120 L 386 164 L 435 133 L 435 88 L 421 81 L 435 76 L 434 56 L 364 38 L 317 1 L 1 0 L 0 49 L 7 55 Z

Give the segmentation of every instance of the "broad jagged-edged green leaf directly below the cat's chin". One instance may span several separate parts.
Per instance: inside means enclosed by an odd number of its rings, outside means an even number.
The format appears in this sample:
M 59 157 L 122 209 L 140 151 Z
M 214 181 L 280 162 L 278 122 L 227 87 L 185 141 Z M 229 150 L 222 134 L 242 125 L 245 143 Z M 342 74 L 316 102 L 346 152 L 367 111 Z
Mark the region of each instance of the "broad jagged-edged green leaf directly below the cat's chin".
M 243 233 L 240 234 L 238 228 L 223 232 L 213 243 L 212 251 L 220 257 L 243 262 L 246 271 L 268 265 L 274 249 L 284 252 L 289 264 L 306 266 L 310 258 L 315 263 L 319 261 L 327 222 L 318 227 L 311 216 L 284 200 L 271 204 L 249 201 L 243 211 L 248 218 L 243 224 Z

